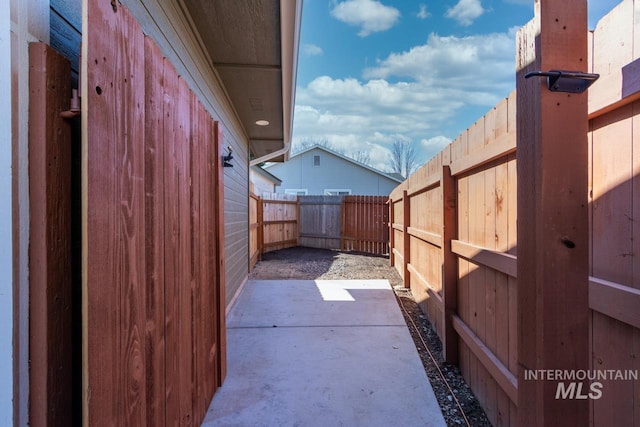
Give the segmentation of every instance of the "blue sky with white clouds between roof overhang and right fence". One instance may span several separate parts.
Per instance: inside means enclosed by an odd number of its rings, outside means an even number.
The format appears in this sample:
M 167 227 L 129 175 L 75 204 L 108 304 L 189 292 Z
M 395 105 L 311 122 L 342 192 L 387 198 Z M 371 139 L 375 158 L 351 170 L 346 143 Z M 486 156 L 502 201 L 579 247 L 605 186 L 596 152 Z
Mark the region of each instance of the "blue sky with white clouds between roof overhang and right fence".
M 533 3 L 304 0 L 294 147 L 325 139 L 385 170 L 402 140 L 427 161 L 515 88 Z M 589 27 L 618 3 L 589 0 Z

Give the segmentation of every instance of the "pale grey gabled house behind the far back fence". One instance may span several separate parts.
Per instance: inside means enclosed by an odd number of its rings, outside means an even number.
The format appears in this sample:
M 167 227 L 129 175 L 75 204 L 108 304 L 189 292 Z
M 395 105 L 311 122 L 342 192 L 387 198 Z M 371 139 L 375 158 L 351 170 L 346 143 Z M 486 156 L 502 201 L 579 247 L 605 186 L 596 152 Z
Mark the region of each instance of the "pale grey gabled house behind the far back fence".
M 403 181 L 320 145 L 265 169 L 280 177 L 277 191 L 286 194 L 386 196 Z

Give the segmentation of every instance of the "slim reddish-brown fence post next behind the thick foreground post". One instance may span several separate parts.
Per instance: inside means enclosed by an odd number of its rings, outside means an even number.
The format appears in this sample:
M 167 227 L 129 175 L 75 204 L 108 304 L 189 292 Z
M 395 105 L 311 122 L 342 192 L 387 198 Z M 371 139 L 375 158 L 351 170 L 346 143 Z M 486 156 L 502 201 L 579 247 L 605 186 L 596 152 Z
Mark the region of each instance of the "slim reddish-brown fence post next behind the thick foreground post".
M 451 316 L 458 311 L 458 259 L 451 241 L 458 237 L 458 192 L 451 168 L 442 166 L 442 325 L 443 353 L 446 362 L 458 364 L 458 334 Z

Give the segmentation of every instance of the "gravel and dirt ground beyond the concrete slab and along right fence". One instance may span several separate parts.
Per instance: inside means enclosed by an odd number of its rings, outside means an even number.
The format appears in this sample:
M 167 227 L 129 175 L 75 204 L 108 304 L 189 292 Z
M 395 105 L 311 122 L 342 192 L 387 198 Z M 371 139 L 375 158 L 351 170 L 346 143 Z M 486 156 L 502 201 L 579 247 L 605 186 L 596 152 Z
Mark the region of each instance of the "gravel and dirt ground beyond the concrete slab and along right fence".
M 355 252 L 290 248 L 263 255 L 250 279 L 387 279 L 403 311 L 448 426 L 490 426 L 460 370 L 442 359 L 442 345 L 431 324 L 402 286 L 389 258 Z

